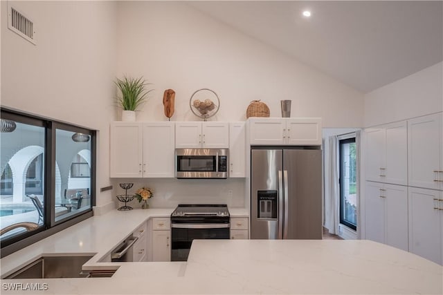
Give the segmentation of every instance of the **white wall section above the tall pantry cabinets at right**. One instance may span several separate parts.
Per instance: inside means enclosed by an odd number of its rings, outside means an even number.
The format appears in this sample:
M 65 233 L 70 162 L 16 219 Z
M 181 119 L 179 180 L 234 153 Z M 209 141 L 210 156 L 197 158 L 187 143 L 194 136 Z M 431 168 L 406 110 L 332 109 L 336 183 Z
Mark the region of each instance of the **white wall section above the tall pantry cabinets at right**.
M 443 62 L 365 95 L 364 126 L 443 111 Z

